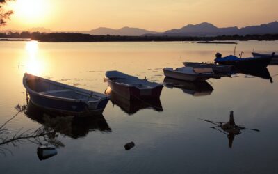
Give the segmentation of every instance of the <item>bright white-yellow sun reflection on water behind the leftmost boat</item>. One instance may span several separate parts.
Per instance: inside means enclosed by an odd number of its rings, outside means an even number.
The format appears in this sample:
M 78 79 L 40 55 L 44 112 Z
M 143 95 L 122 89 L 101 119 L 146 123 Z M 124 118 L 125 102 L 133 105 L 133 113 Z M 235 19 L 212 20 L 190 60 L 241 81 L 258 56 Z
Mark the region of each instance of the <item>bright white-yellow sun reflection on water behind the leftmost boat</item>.
M 44 70 L 44 62 L 38 54 L 39 47 L 37 41 L 26 42 L 26 72 L 35 75 L 41 75 Z

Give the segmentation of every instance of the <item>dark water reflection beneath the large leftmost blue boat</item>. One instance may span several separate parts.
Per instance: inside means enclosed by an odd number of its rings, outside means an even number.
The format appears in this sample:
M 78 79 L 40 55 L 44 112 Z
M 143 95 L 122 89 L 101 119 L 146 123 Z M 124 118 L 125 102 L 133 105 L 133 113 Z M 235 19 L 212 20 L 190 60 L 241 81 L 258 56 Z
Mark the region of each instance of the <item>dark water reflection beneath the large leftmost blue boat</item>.
M 26 116 L 44 125 L 44 127 L 50 127 L 55 132 L 70 136 L 73 139 L 79 139 L 95 130 L 111 132 L 111 128 L 102 115 L 91 117 L 60 116 L 29 102 Z

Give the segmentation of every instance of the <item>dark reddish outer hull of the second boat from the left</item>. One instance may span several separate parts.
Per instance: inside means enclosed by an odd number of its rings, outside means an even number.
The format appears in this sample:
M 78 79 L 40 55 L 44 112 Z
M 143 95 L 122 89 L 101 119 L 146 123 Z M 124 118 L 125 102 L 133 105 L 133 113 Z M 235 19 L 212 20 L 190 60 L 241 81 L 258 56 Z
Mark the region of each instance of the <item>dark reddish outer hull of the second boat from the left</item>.
M 108 79 L 108 86 L 114 93 L 124 97 L 127 100 L 147 99 L 159 97 L 163 86 L 156 86 L 155 88 L 136 88 L 135 86 L 126 86 Z

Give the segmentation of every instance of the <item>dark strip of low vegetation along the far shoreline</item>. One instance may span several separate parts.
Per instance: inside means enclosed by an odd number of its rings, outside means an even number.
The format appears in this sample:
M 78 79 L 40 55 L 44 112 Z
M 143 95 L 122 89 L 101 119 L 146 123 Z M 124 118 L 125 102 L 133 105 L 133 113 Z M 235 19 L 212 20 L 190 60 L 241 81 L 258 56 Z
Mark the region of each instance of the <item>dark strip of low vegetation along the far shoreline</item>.
M 195 36 L 167 36 L 167 35 L 152 35 L 152 36 L 120 36 L 120 35 L 90 35 L 81 33 L 39 33 L 39 32 L 22 32 L 22 33 L 0 33 L 1 41 L 19 41 L 19 40 L 38 40 L 40 42 L 163 42 L 163 41 L 206 41 L 211 43 L 218 40 L 278 40 L 278 34 L 264 35 L 219 35 L 210 37 L 195 37 Z M 225 42 L 213 42 L 225 43 Z M 233 43 L 234 44 L 234 43 Z

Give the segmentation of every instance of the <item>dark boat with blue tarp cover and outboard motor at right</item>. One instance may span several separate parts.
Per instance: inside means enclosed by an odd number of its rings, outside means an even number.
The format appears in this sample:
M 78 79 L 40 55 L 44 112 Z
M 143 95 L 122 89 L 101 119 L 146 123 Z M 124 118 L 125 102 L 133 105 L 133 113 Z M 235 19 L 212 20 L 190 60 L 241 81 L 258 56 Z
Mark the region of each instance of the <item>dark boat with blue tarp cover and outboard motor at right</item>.
M 226 56 L 222 58 L 221 54 L 216 54 L 215 63 L 220 65 L 233 65 L 236 68 L 263 68 L 267 67 L 272 56 L 263 56 L 258 58 L 238 58 L 237 56 Z

